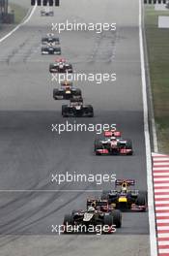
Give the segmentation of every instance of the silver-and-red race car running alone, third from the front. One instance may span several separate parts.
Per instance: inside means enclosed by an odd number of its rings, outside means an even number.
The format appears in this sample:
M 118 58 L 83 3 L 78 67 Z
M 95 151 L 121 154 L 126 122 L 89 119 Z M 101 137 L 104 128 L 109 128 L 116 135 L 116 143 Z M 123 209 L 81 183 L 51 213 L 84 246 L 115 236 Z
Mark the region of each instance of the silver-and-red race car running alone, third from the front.
M 96 155 L 132 155 L 132 143 L 117 137 L 106 137 L 95 140 Z

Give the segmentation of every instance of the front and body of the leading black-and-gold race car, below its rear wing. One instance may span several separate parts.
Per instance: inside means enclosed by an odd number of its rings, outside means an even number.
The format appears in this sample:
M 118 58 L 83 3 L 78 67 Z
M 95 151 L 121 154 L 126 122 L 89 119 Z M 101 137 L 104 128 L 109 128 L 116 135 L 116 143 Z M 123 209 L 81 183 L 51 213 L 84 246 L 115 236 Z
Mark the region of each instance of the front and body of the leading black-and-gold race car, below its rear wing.
M 70 226 L 70 231 L 72 231 L 72 228 L 74 228 L 75 231 L 78 230 L 78 232 L 86 233 L 89 231 L 85 228 L 93 226 L 95 229 L 95 227 L 97 228 L 99 225 L 102 227 L 101 233 L 112 233 L 113 227 L 115 227 L 116 224 L 119 225 L 119 222 L 117 222 L 117 219 L 114 216 L 115 215 L 113 215 L 113 211 L 110 213 L 102 212 L 93 207 L 89 207 L 87 210 L 72 210 L 71 214 L 65 215 L 63 224 L 65 227 Z M 106 232 L 103 229 L 105 226 L 107 227 Z M 79 227 L 82 229 L 79 229 Z M 66 229 L 65 233 L 68 233 Z

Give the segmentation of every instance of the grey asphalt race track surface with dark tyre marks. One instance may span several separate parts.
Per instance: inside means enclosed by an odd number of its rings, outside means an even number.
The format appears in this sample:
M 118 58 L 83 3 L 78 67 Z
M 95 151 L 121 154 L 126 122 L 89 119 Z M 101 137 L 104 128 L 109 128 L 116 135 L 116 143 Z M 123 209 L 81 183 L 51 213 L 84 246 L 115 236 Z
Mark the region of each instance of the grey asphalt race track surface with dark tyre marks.
M 0 255 L 150 255 L 147 212 L 124 213 L 122 229 L 111 236 L 51 232 L 65 213 L 84 208 L 87 197 L 100 195 L 97 190 L 111 188 L 95 182 L 57 185 L 51 182 L 56 172 L 115 174 L 147 189 L 138 1 L 62 0 L 54 17 L 41 17 L 40 10 L 0 48 Z M 117 123 L 132 140 L 133 156 L 95 156 L 93 132 L 51 131 L 51 124 L 67 119 L 61 115 L 63 101 L 52 98 L 58 84 L 51 81 L 48 66 L 56 57 L 41 55 L 41 39 L 51 32 L 52 22 L 67 19 L 117 23 L 115 32 L 65 31 L 59 36 L 62 56 L 77 73 L 117 74 L 116 81 L 75 82 L 95 117 L 69 121 Z

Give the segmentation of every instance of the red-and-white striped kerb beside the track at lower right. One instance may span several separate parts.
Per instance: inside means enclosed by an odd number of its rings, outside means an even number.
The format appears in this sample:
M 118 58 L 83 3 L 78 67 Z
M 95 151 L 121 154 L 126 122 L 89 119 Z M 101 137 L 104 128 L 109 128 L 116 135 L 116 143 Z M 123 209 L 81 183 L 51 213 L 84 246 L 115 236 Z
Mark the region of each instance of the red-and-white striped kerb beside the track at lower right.
M 156 237 L 159 256 L 169 255 L 169 155 L 153 154 Z

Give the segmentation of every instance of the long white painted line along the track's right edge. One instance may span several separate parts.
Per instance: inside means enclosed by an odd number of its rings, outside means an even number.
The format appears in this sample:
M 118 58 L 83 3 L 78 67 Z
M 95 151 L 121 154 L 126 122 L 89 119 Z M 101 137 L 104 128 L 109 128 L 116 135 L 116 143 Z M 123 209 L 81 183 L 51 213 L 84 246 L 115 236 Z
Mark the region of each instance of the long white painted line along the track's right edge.
M 146 72 L 143 46 L 143 31 L 142 31 L 142 0 L 139 0 L 139 45 L 140 45 L 140 61 L 141 61 L 141 79 L 142 79 L 142 96 L 143 96 L 143 111 L 144 111 L 144 135 L 146 146 L 146 165 L 147 165 L 147 183 L 148 183 L 148 206 L 149 206 L 149 227 L 150 227 L 150 243 L 151 255 L 157 256 L 156 232 L 155 232 L 155 206 L 154 206 L 154 188 L 152 176 L 152 151 L 150 144 L 149 133 L 149 115 L 147 102 L 147 86 Z

